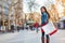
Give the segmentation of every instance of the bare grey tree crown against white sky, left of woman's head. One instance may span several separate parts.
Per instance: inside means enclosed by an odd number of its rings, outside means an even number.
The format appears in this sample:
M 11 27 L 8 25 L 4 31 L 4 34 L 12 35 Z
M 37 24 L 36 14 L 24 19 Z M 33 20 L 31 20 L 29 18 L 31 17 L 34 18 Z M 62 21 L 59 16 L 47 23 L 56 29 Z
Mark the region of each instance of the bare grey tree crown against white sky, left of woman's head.
M 29 12 L 37 10 L 40 5 L 36 3 L 36 0 L 26 0 Z

